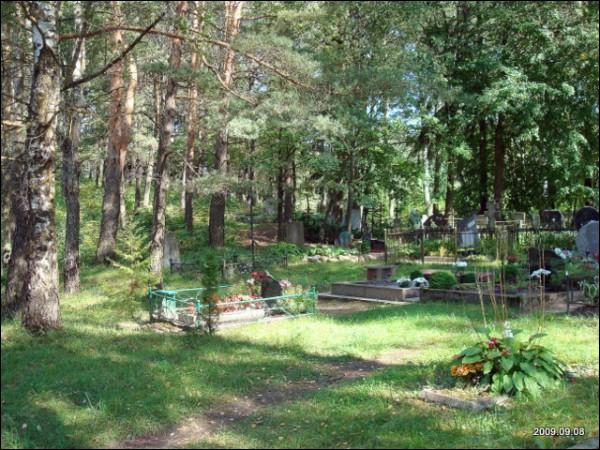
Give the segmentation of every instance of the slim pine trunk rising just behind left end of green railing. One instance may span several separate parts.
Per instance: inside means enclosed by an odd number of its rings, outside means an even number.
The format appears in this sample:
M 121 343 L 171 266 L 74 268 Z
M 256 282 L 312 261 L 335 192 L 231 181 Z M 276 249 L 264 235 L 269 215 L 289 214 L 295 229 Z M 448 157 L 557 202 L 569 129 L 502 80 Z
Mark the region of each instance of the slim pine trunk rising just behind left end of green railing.
M 177 18 L 184 17 L 187 12 L 187 2 L 177 2 Z M 171 55 L 169 67 L 177 71 L 181 64 L 181 39 L 173 38 L 171 41 Z M 167 208 L 167 188 L 169 184 L 168 162 L 171 153 L 171 140 L 175 126 L 177 108 L 175 98 L 177 95 L 177 80 L 169 76 L 165 92 L 165 108 L 161 117 L 160 138 L 156 160 L 156 187 L 154 189 L 154 205 L 152 220 L 152 242 L 150 244 L 150 271 L 153 274 L 162 273 L 162 260 L 165 240 L 165 219 Z

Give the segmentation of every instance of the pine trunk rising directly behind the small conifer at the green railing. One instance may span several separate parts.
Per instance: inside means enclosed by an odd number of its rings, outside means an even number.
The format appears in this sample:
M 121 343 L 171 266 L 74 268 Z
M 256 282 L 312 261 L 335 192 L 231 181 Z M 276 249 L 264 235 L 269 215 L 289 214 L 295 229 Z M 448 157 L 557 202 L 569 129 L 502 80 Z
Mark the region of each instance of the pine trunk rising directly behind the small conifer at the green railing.
M 231 43 L 240 30 L 242 9 L 245 2 L 225 2 L 224 15 L 224 40 Z M 225 89 L 229 89 L 233 82 L 235 52 L 231 47 L 224 51 L 223 61 L 219 69 L 219 78 Z M 228 93 L 224 92 L 225 98 L 219 110 L 223 123 L 227 122 L 229 109 Z M 228 157 L 227 129 L 223 127 L 217 134 L 215 169 L 225 175 L 225 163 Z M 216 192 L 210 201 L 210 216 L 208 224 L 209 243 L 213 247 L 225 245 L 225 192 Z

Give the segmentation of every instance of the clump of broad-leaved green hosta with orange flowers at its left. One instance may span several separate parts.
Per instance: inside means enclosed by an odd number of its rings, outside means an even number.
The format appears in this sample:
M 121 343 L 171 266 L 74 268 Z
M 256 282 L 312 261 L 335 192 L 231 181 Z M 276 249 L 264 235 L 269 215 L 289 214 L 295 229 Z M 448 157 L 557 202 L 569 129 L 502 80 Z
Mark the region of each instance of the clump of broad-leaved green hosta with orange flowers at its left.
M 536 396 L 565 376 L 565 366 L 539 339 L 542 333 L 521 341 L 505 324 L 503 337 L 480 330 L 486 338 L 454 356 L 451 374 L 495 394 Z

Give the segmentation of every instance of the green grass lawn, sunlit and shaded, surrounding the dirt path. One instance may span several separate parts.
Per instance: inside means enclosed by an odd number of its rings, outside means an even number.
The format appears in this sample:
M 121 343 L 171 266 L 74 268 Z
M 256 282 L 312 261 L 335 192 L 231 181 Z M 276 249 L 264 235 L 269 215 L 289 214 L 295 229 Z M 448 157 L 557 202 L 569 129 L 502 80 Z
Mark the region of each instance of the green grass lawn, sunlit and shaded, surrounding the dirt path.
M 298 265 L 288 275 L 328 283 L 362 271 L 340 262 Z M 2 325 L 3 448 L 114 444 L 168 429 L 237 396 L 317 380 L 328 363 L 393 349 L 410 358 L 273 405 L 195 446 L 524 447 L 534 446 L 537 426 L 598 433 L 597 372 L 538 400 L 516 400 L 510 409 L 487 413 L 415 399 L 425 385 L 451 382 L 451 356 L 475 339 L 476 307 L 415 304 L 254 324 L 215 337 L 157 334 L 117 327 L 142 313 L 112 293 L 122 277 L 114 269 L 88 270 L 83 292 L 62 298 L 61 331 L 33 338 L 16 323 Z M 520 318 L 514 326 L 532 332 L 538 320 Z M 598 365 L 598 318 L 550 316 L 546 332 L 545 344 L 567 363 Z

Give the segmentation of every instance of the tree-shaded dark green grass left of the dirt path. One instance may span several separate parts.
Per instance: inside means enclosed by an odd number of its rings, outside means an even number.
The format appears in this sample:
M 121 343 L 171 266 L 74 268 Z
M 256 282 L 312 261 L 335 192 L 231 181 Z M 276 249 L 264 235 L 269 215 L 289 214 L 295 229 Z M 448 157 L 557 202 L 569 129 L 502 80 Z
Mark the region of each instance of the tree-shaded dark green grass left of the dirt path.
M 2 344 L 3 444 L 102 446 L 169 428 L 235 396 L 317 379 L 320 366 L 342 360 L 219 336 L 18 334 Z

